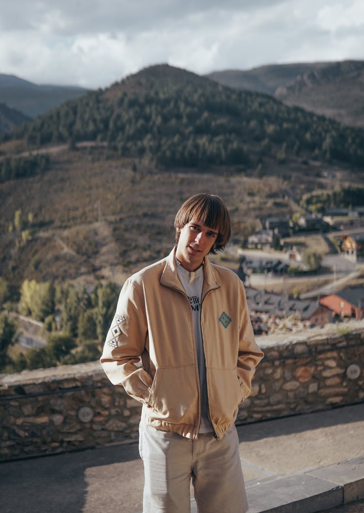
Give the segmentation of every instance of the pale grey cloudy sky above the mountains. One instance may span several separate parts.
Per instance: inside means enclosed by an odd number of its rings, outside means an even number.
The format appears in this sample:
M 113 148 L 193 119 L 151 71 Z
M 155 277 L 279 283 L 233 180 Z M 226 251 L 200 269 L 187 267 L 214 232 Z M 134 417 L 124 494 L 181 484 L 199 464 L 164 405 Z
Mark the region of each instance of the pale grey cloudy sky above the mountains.
M 364 59 L 363 0 L 0 0 L 0 73 L 38 84 L 347 58 Z

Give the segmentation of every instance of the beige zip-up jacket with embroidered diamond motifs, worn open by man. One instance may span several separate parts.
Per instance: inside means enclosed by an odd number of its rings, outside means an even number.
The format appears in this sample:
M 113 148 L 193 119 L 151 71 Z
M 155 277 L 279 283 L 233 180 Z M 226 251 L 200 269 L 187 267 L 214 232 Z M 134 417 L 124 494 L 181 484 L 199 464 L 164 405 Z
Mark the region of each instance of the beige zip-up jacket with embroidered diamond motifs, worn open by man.
M 220 439 L 250 394 L 263 353 L 254 340 L 242 282 L 208 258 L 201 330 L 208 411 Z M 100 361 L 111 383 L 143 403 L 142 419 L 149 426 L 197 438 L 200 384 L 194 326 L 177 276 L 175 248 L 125 282 Z

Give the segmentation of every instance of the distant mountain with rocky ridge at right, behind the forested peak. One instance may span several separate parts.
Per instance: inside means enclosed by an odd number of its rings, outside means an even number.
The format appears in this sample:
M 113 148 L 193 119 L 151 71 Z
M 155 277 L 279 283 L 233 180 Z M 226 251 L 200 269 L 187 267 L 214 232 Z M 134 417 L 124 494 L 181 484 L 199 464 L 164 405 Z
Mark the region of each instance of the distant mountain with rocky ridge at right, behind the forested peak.
M 364 61 L 282 64 L 206 75 L 220 84 L 271 94 L 286 105 L 364 127 Z

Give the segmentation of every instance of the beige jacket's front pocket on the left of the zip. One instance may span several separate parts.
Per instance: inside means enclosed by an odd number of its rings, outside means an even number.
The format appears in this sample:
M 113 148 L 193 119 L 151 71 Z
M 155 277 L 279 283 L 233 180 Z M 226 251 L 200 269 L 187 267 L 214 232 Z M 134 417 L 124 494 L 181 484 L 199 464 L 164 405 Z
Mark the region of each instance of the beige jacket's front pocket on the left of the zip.
M 199 411 L 196 369 L 158 367 L 148 398 L 149 418 L 171 424 L 195 424 Z

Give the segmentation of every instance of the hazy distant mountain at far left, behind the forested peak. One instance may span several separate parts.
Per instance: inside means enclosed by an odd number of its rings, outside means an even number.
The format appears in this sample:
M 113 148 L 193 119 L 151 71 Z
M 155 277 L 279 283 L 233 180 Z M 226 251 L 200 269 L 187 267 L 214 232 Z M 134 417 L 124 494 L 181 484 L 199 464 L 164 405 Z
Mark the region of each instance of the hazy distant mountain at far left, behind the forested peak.
M 37 85 L 15 75 L 0 73 L 0 103 L 35 117 L 88 91 L 76 86 Z

